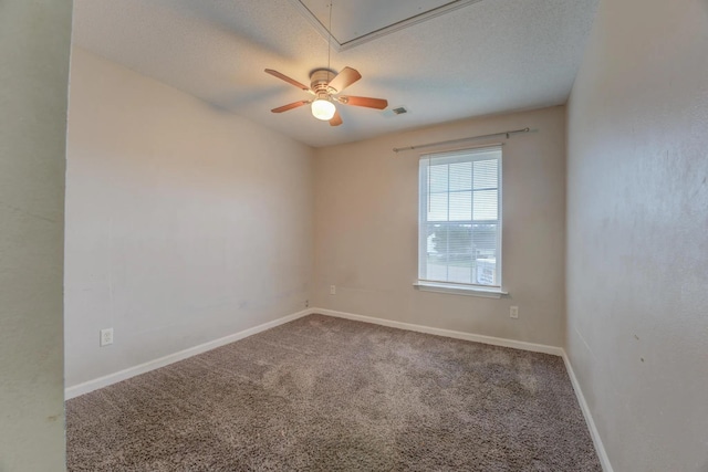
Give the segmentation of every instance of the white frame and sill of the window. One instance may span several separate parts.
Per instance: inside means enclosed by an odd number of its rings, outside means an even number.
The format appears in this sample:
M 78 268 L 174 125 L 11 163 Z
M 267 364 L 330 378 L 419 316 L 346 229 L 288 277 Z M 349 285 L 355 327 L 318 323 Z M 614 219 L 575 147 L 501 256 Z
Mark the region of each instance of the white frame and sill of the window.
M 429 169 L 435 160 L 445 161 L 445 164 L 456 164 L 456 162 L 475 162 L 477 160 L 490 160 L 489 157 L 482 157 L 481 155 L 488 154 L 490 151 L 498 153 L 498 157 L 496 157 L 497 165 L 497 219 L 496 220 L 476 220 L 473 219 L 473 200 L 470 207 L 472 213 L 470 214 L 470 220 L 460 220 L 450 221 L 449 218 L 447 221 L 440 221 L 440 223 L 459 223 L 459 224 L 479 224 L 480 221 L 494 221 L 498 227 L 497 232 L 497 259 L 496 259 L 496 271 L 497 271 L 497 284 L 496 285 L 482 285 L 476 283 L 459 283 L 459 282 L 447 282 L 447 281 L 435 281 L 421 277 L 421 275 L 427 270 L 427 237 L 424 234 L 427 233 L 427 224 L 435 223 L 435 221 L 428 221 L 428 198 L 429 198 Z M 479 157 L 476 158 L 476 155 Z M 440 165 L 440 164 L 438 164 Z M 433 291 L 433 292 L 442 292 L 442 293 L 455 293 L 462 295 L 476 295 L 476 296 L 485 296 L 485 297 L 494 297 L 498 298 L 502 295 L 508 294 L 503 287 L 503 279 L 502 279 L 502 261 L 503 261 L 503 251 L 502 251 L 502 229 L 503 229 L 503 150 L 502 144 L 488 144 L 483 146 L 476 147 L 466 147 L 464 149 L 456 150 L 447 150 L 447 151 L 436 151 L 436 153 L 427 153 L 419 156 L 418 161 L 418 264 L 417 264 L 417 281 L 414 283 L 414 286 L 421 291 Z M 425 171 L 424 171 L 425 170 Z M 478 189 L 479 190 L 479 189 Z M 473 183 L 472 188 L 473 198 Z M 449 196 L 449 185 L 447 195 Z M 449 201 L 449 200 L 448 200 Z M 424 231 L 425 229 L 425 231 Z

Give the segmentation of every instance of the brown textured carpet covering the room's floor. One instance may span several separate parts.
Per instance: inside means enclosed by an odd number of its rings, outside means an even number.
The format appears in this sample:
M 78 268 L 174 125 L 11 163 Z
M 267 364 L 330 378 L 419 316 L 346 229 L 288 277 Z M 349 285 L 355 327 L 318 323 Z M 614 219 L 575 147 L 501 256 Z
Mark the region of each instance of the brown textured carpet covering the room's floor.
M 70 471 L 601 471 L 560 357 L 311 315 L 66 402 Z

